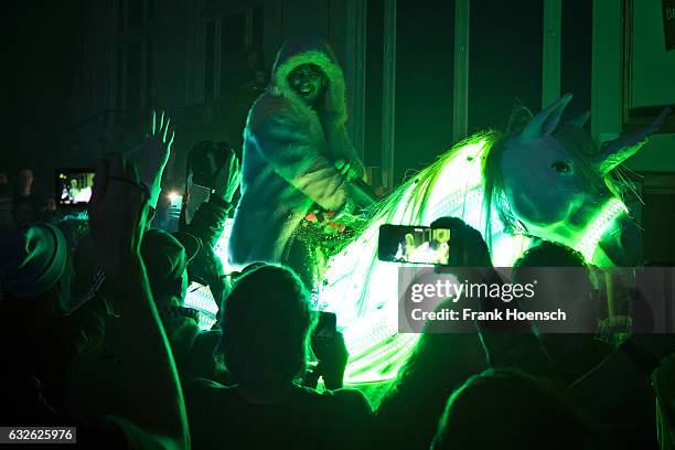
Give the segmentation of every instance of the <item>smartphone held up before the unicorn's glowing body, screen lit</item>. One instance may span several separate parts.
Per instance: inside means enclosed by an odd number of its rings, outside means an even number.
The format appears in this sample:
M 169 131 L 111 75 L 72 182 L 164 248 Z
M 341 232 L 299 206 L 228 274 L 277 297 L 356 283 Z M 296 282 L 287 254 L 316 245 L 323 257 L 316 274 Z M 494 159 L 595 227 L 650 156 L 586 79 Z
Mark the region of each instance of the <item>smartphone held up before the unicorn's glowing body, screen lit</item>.
M 388 262 L 447 266 L 450 261 L 450 229 L 382 225 L 377 257 Z

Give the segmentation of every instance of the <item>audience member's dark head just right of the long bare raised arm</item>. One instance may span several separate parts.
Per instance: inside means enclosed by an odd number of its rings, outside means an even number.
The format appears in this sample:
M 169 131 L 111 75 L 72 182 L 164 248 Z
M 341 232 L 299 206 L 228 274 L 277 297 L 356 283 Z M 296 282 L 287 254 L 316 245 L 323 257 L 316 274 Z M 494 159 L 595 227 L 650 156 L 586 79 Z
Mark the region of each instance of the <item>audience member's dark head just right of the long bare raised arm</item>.
M 200 242 L 182 232 L 150 229 L 141 242 L 141 257 L 150 290 L 159 308 L 179 307 L 188 291 L 188 264 L 200 249 Z

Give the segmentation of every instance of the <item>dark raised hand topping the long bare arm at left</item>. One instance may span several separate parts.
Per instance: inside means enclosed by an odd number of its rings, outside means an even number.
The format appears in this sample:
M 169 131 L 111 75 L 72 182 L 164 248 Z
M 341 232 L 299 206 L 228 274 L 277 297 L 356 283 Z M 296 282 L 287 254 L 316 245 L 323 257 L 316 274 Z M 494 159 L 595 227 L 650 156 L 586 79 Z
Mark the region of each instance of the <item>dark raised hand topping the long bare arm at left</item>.
M 117 274 L 127 257 L 138 255 L 147 204 L 148 190 L 133 163 L 119 154 L 98 161 L 88 205 L 89 229 L 107 274 Z

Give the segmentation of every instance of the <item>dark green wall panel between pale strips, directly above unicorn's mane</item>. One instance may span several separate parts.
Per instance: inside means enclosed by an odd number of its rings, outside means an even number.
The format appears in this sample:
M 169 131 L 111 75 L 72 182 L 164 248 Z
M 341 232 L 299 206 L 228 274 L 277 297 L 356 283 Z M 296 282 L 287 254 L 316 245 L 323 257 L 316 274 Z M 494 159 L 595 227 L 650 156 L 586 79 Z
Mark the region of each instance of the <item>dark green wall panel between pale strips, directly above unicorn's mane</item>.
M 394 181 L 452 146 L 454 1 L 400 0 L 396 11 Z

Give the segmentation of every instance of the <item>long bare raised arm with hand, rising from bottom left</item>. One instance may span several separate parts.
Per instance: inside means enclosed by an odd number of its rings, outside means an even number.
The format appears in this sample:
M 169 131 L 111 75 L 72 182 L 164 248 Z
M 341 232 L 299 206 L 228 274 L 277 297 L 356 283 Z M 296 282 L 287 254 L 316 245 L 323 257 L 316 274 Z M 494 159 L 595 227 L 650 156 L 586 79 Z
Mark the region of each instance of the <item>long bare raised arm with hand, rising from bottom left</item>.
M 168 448 L 190 448 L 183 394 L 139 253 L 147 214 L 147 189 L 135 167 L 120 156 L 107 156 L 96 170 L 89 219 L 126 330 L 125 419 L 157 435 Z

